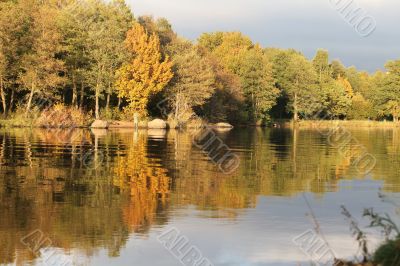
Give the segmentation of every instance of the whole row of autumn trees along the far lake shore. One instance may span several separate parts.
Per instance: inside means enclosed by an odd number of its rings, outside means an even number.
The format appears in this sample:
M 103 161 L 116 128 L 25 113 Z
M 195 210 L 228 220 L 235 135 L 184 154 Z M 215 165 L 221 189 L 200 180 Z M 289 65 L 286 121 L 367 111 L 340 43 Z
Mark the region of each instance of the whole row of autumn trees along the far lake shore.
M 0 100 L 29 117 L 51 99 L 96 119 L 164 116 L 184 125 L 400 116 L 400 60 L 370 74 L 240 32 L 178 36 L 164 18 L 134 17 L 124 0 L 0 1 Z

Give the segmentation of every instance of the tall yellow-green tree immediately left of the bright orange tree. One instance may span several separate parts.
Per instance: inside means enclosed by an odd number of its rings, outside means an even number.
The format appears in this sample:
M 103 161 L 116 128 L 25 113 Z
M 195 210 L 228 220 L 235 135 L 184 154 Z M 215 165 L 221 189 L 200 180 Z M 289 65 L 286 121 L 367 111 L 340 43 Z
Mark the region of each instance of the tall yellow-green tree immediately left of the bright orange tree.
M 126 61 L 123 40 L 133 18 L 123 1 L 111 1 L 108 4 L 96 1 L 88 11 L 92 12 L 87 25 L 88 56 L 91 61 L 88 77 L 95 94 L 95 116 L 98 119 L 100 98 L 104 92 L 108 97 L 112 94 L 114 73 Z

